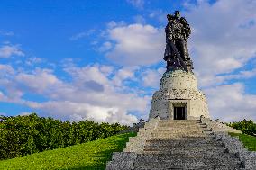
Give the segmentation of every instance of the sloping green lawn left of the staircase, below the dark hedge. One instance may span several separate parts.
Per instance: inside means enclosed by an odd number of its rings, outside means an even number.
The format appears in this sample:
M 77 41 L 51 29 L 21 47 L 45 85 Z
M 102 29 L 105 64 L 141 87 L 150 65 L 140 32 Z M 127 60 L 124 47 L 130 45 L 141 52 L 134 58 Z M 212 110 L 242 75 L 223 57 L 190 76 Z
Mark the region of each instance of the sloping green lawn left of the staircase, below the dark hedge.
M 67 148 L 58 148 L 24 157 L 0 161 L 0 169 L 105 169 L 113 152 L 122 151 L 129 137 L 126 133 Z

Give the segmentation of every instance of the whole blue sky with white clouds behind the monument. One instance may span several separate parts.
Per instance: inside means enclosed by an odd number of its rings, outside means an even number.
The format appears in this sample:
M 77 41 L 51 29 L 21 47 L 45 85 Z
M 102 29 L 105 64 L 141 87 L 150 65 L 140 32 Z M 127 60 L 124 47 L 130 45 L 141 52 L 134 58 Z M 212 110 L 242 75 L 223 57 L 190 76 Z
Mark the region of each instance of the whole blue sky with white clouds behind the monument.
M 213 119 L 255 121 L 253 0 L 2 0 L 0 114 L 147 119 L 175 10 L 192 27 L 188 49 Z

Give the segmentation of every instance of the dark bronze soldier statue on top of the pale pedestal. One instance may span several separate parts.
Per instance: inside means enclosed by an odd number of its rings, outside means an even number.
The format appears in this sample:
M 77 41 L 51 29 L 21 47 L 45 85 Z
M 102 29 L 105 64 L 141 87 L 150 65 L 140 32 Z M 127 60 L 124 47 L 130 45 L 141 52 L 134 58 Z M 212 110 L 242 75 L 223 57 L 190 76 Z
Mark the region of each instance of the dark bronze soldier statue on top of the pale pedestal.
M 167 61 L 167 72 L 176 69 L 192 71 L 193 63 L 187 50 L 187 39 L 191 33 L 189 24 L 180 12 L 167 15 L 168 24 L 166 32 L 166 49 L 164 60 Z

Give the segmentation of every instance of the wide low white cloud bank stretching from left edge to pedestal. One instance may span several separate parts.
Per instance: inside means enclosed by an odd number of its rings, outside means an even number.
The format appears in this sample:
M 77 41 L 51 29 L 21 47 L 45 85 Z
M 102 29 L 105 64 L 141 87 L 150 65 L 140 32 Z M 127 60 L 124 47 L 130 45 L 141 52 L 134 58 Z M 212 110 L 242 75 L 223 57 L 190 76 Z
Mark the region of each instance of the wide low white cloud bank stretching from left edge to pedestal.
M 0 75 L 0 87 L 5 87 L 5 94 L 0 93 L 0 101 L 23 104 L 43 115 L 74 118 L 76 121 L 87 119 L 132 124 L 137 118 L 129 112 L 143 115 L 150 102 L 149 97 L 139 96 L 135 91 L 123 91 L 124 81 L 133 81 L 131 67 L 114 70 L 98 64 L 86 67 L 69 65 L 65 68 L 72 77 L 69 82 L 60 80 L 49 69 L 23 72 L 0 65 L 0 70 L 5 72 Z M 25 100 L 25 94 L 42 95 L 47 101 Z

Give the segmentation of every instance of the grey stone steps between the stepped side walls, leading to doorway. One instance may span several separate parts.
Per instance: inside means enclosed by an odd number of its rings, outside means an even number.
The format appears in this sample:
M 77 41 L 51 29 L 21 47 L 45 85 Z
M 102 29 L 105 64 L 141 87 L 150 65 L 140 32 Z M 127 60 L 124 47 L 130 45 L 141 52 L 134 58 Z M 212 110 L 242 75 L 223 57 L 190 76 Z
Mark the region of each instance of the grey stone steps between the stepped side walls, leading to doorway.
M 200 121 L 160 121 L 146 141 L 133 169 L 240 169 L 241 161 L 227 153 Z

